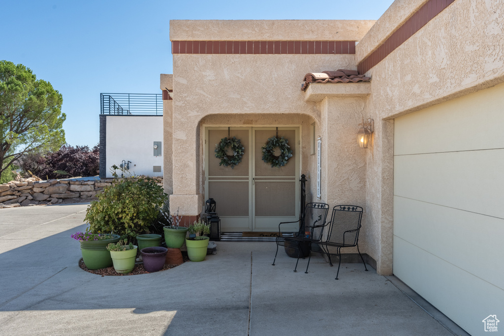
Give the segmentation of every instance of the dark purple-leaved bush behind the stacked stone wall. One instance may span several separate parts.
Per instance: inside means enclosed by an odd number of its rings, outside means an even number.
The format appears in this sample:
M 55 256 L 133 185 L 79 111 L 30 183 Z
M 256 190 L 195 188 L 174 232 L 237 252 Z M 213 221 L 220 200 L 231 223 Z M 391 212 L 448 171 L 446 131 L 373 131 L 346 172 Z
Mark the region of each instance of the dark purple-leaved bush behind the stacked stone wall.
M 100 147 L 62 146 L 57 152 L 30 153 L 23 157 L 21 168 L 40 178 L 95 176 L 100 170 Z

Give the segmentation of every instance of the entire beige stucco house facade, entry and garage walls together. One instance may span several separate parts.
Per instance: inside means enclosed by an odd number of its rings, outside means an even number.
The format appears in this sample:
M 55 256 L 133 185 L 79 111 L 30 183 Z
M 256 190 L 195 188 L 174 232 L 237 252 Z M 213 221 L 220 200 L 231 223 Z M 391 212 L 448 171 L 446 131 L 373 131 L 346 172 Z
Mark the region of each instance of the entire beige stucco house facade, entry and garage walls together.
M 360 86 L 362 92 L 355 97 L 326 99 L 316 92 L 316 85 L 306 94 L 299 87 L 308 72 L 356 69 L 356 59 L 380 46 L 424 3 L 397 0 L 365 35 L 370 21 L 170 22 L 172 40 L 360 40 L 356 55 L 173 55 L 173 120 L 172 125 L 168 118 L 164 122 L 165 128 L 173 127 L 173 157 L 183 160 L 173 163 L 172 205 L 186 214 L 200 211 L 202 172 L 187 162 L 202 163 L 203 122 L 218 123 L 223 115 L 233 115 L 234 124 L 254 124 L 271 114 L 290 124 L 290 115 L 306 115 L 317 121 L 324 153 L 336 150 L 349 156 L 345 157 L 348 164 L 325 157 L 323 166 L 333 174 L 323 173 L 323 192 L 337 191 L 323 194 L 323 200 L 331 205 L 345 198 L 364 203 L 365 252 L 377 261 L 380 274 L 392 274 L 393 119 L 504 80 L 504 4 L 456 0 L 374 66 L 367 73 L 371 82 L 365 89 Z M 338 85 L 342 84 L 322 86 Z M 216 116 L 205 118 L 211 114 Z M 367 150 L 353 145 L 362 116 L 375 121 Z M 340 143 L 347 153 L 334 146 Z M 309 142 L 303 140 L 303 150 L 305 146 Z M 306 160 L 308 166 L 303 159 L 301 173 L 306 168 L 313 181 L 316 166 L 312 158 Z M 315 193 L 314 183 L 310 190 Z

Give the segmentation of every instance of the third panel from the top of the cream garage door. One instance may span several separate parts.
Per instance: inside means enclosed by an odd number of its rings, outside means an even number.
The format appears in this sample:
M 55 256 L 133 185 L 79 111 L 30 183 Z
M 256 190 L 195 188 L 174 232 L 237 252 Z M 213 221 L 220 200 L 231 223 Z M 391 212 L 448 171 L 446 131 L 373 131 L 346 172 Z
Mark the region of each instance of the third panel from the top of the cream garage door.
M 394 236 L 504 289 L 502 219 L 395 196 Z

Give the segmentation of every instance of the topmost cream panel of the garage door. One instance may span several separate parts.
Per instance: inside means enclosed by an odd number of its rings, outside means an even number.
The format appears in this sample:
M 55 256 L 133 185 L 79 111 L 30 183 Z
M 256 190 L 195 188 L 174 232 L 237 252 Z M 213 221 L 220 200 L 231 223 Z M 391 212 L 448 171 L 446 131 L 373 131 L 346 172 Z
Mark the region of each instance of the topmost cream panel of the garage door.
M 394 154 L 504 148 L 504 84 L 410 113 L 394 121 Z M 488 122 L 488 121 L 491 122 Z

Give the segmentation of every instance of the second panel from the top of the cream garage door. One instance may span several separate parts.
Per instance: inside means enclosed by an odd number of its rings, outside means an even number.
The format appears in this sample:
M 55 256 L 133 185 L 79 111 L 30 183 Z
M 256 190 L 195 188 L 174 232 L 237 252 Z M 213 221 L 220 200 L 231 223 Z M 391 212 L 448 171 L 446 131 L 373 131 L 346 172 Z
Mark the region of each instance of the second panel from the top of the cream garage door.
M 504 150 L 394 157 L 394 194 L 504 218 Z

